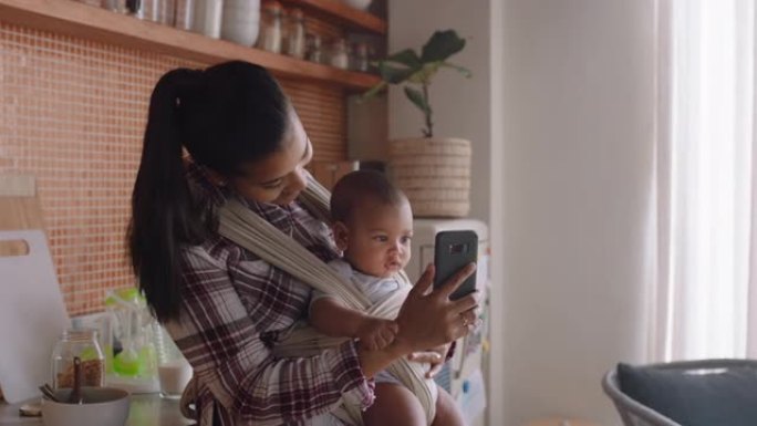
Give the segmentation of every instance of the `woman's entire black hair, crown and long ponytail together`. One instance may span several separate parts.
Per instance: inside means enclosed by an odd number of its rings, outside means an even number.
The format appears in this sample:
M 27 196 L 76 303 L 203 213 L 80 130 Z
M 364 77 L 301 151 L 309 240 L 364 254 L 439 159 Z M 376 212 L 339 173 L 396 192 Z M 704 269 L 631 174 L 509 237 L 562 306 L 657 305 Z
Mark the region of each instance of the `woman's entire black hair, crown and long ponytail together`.
M 214 222 L 189 191 L 183 148 L 198 165 L 238 175 L 281 148 L 290 107 L 266 69 L 241 61 L 176 69 L 155 85 L 127 238 L 139 288 L 162 322 L 179 312 L 179 250 L 203 242 Z

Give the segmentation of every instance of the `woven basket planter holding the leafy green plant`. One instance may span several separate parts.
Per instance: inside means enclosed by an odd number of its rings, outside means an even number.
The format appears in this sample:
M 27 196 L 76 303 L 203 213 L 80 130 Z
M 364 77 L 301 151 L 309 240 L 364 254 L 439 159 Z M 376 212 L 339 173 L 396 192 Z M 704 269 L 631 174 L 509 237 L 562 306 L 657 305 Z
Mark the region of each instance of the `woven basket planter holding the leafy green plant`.
M 456 138 L 390 142 L 390 172 L 416 217 L 470 211 L 470 142 Z

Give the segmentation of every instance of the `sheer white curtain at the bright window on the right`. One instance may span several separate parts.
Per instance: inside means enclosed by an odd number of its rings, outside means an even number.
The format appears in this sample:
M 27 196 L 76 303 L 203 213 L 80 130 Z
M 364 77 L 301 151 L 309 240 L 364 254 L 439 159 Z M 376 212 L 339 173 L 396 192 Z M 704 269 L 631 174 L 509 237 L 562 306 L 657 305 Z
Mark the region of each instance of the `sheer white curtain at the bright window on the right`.
M 657 6 L 651 357 L 757 357 L 755 0 Z

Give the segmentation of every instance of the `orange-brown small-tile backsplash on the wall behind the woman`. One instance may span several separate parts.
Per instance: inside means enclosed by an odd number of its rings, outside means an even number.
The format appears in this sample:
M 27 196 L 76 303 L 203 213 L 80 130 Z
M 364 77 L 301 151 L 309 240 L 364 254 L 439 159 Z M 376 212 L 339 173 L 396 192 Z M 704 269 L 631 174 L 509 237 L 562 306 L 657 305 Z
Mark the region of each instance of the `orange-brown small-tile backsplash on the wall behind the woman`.
M 175 66 L 203 65 L 0 18 L 0 174 L 37 176 L 72 315 L 102 309 L 105 289 L 134 284 L 124 232 L 147 102 L 157 79 Z M 342 90 L 283 85 L 315 145 L 315 159 L 344 159 Z

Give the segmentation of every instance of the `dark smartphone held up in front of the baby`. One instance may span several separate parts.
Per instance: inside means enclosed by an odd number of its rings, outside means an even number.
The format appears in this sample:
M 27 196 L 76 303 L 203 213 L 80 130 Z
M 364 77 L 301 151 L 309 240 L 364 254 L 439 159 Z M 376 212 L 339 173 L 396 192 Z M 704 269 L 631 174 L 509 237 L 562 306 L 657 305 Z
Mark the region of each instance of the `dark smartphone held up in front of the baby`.
M 470 230 L 442 231 L 436 235 L 434 246 L 434 288 L 444 285 L 457 271 L 468 263 L 478 261 L 478 236 Z M 476 291 L 476 272 L 449 295 L 457 300 Z

